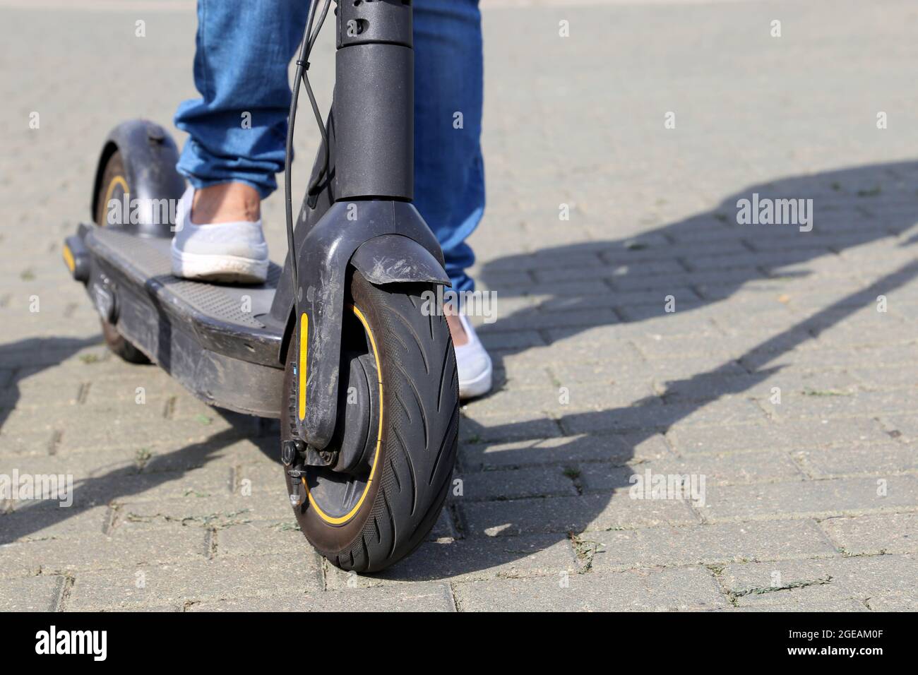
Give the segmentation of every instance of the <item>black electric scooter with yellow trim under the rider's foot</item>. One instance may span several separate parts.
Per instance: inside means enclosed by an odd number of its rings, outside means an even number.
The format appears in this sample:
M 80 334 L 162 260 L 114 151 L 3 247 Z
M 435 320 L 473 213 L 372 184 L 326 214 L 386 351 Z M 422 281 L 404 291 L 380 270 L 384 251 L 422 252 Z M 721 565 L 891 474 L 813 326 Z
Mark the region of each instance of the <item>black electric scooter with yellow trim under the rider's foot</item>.
M 172 275 L 174 219 L 162 211 L 182 197 L 185 180 L 174 141 L 145 120 L 108 136 L 95 174 L 95 223 L 67 238 L 63 256 L 113 352 L 158 364 L 212 405 L 280 418 L 300 529 L 334 565 L 373 572 L 420 545 L 451 484 L 458 377 L 450 332 L 429 299 L 449 278 L 411 204 L 411 4 L 338 0 L 336 84 L 324 123 L 308 82 L 330 0 L 320 13 L 319 4 L 310 3 L 294 80 L 283 268 L 272 264 L 257 286 Z M 322 143 L 294 228 L 300 84 Z M 111 206 L 127 196 L 151 207 L 111 222 Z

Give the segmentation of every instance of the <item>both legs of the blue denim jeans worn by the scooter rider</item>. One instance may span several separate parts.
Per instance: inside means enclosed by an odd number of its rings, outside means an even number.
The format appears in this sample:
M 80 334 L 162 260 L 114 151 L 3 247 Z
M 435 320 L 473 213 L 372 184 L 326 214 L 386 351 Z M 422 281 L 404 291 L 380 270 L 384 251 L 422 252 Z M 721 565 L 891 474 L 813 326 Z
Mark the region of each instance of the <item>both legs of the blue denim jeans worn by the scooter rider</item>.
M 189 134 L 178 170 L 196 188 L 234 181 L 263 198 L 277 188 L 291 96 L 287 67 L 308 5 L 198 0 L 195 84 L 202 98 L 175 113 L 175 126 Z M 414 51 L 414 203 L 440 241 L 453 290 L 472 290 L 465 269 L 475 255 L 465 239 L 485 209 L 477 0 L 415 0 Z M 456 129 L 460 112 L 463 128 Z

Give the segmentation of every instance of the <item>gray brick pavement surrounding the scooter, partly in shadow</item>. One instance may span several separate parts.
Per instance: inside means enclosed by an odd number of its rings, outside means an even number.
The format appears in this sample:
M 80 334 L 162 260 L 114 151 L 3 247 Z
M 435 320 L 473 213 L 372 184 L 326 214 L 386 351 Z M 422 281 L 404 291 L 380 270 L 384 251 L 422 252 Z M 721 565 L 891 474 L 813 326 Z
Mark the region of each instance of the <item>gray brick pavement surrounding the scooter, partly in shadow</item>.
M 194 17 L 73 5 L 0 3 L 0 474 L 76 485 L 0 503 L 0 609 L 918 609 L 912 3 L 486 5 L 498 391 L 463 409 L 463 496 L 374 577 L 297 532 L 274 423 L 101 343 L 62 237 L 107 129 L 192 95 Z M 813 230 L 738 225 L 753 193 Z M 648 470 L 703 503 L 632 499 Z

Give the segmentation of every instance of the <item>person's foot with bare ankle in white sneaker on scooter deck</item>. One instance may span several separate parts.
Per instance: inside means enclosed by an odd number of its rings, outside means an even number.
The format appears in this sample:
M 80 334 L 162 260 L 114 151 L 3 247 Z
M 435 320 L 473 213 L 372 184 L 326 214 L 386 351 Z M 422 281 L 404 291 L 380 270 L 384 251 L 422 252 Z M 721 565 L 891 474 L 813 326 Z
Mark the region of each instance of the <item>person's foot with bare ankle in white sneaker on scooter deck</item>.
M 188 187 L 175 217 L 173 274 L 230 284 L 263 283 L 268 244 L 260 206 L 255 189 L 241 183 L 197 191 Z

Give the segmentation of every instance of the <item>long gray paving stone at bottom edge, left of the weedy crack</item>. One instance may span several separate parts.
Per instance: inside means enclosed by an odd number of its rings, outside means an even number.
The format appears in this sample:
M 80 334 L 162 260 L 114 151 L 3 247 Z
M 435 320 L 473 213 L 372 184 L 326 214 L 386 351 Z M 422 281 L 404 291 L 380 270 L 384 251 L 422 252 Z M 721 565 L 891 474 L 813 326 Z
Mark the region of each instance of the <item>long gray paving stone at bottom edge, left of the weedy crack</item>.
M 566 586 L 564 584 L 566 583 Z M 472 581 L 455 585 L 461 612 L 700 610 L 727 606 L 704 568 Z

